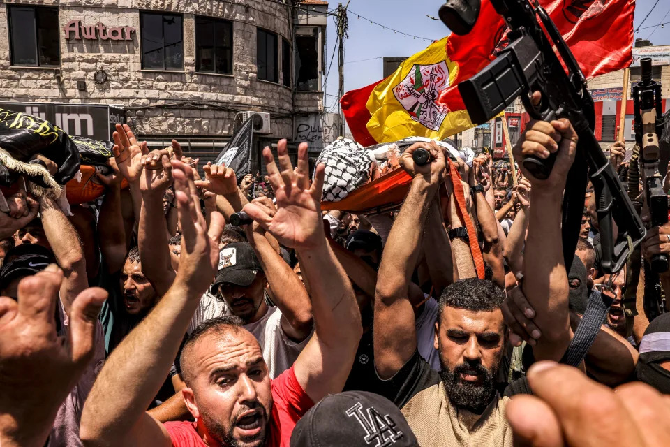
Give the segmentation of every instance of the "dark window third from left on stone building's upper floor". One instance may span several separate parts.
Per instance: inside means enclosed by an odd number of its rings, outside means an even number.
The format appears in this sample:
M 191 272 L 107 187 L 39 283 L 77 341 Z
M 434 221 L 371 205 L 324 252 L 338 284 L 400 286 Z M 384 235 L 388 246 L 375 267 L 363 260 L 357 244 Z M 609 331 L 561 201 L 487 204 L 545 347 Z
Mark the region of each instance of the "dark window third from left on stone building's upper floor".
M 195 17 L 195 71 L 232 75 L 232 22 Z

